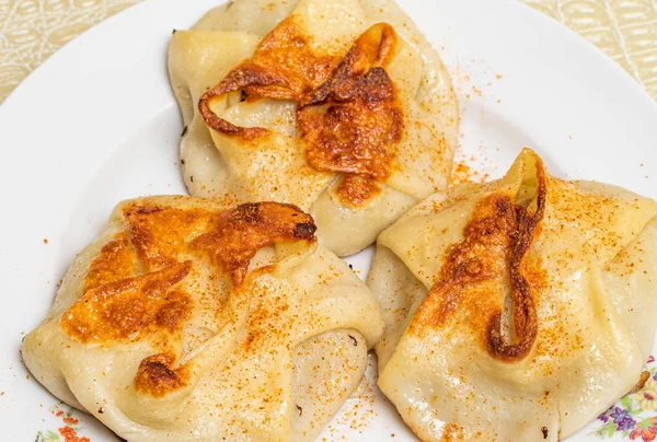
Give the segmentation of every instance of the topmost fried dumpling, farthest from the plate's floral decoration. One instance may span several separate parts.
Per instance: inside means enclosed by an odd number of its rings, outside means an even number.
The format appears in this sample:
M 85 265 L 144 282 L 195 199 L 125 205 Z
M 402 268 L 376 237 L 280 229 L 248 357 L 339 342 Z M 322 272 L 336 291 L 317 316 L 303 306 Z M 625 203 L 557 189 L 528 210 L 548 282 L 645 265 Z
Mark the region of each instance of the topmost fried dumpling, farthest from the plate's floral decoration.
M 310 212 L 336 254 L 447 187 L 454 93 L 389 0 L 237 0 L 178 31 L 169 72 L 194 196 Z

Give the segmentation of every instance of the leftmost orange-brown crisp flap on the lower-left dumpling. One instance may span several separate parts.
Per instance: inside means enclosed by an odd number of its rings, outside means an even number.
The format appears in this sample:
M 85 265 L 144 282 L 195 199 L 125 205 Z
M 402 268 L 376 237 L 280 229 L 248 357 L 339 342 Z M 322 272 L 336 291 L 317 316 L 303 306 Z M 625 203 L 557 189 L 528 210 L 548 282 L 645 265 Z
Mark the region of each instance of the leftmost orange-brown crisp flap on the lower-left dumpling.
M 187 276 L 192 263 L 123 279 L 89 290 L 61 316 L 60 326 L 82 344 L 111 345 L 138 340 L 155 330 L 182 329 L 192 299 L 172 287 Z

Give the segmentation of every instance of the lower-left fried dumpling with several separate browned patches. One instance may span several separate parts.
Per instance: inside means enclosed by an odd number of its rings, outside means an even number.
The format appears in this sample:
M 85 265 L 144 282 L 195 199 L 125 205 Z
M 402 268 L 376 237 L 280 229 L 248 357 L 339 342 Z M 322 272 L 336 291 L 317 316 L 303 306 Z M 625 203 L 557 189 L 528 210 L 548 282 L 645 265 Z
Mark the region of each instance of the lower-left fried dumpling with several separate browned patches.
M 382 334 L 369 289 L 275 202 L 122 202 L 23 359 L 128 441 L 310 441 Z

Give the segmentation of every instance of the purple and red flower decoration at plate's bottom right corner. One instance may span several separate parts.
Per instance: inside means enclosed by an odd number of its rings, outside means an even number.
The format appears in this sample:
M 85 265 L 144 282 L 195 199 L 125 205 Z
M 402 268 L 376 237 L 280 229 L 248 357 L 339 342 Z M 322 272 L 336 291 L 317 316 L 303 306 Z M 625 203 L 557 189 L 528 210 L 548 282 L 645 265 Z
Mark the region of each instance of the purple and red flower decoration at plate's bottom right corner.
M 632 441 L 657 439 L 657 367 L 650 356 L 646 368 L 649 376 L 638 392 L 623 397 L 598 420 L 602 423 L 591 433 L 602 439 L 621 437 Z

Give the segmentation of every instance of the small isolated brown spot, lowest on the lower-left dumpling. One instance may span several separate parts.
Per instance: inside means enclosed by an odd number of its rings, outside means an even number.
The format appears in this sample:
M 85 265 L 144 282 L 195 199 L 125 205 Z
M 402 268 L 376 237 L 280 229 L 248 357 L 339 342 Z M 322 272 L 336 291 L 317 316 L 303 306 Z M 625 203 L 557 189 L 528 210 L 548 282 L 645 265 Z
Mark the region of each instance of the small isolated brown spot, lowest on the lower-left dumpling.
M 186 367 L 173 370 L 175 357 L 171 353 L 149 356 L 139 363 L 135 376 L 135 389 L 143 395 L 162 397 L 188 384 Z

